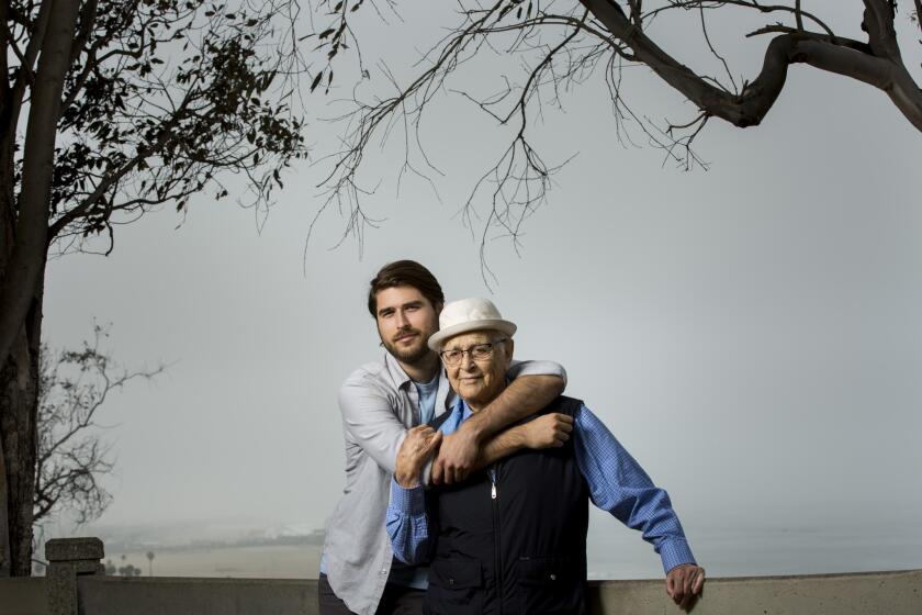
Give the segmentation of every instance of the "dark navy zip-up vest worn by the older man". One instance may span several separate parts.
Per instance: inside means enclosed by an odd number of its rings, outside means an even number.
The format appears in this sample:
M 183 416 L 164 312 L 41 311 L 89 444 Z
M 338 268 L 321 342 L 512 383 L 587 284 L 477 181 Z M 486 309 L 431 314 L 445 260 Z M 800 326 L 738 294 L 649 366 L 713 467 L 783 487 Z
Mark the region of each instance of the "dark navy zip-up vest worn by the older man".
M 539 414 L 573 416 L 581 403 L 560 396 Z M 427 497 L 438 538 L 425 613 L 586 612 L 589 497 L 572 439 L 520 451 Z

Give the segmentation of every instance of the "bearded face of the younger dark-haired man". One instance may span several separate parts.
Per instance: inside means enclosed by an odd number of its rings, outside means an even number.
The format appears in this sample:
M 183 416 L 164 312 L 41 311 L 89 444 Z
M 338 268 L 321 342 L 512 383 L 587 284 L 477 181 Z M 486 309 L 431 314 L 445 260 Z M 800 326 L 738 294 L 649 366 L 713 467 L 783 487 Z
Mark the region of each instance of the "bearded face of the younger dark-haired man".
M 429 336 L 439 329 L 439 314 L 413 287 L 392 287 L 378 291 L 378 335 L 391 355 L 414 365 L 429 355 Z M 441 305 L 439 305 L 441 308 Z

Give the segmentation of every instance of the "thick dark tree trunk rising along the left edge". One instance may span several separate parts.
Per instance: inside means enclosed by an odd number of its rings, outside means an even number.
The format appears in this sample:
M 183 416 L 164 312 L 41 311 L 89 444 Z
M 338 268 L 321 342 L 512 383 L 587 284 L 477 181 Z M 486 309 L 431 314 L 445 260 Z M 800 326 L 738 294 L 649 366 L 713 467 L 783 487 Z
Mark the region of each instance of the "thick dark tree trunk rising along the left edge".
M 61 91 L 80 9 L 79 0 L 46 2 L 48 26 L 30 97 L 19 201 L 12 211 L 12 192 L 5 192 L 0 216 L 0 454 L 5 466 L 0 501 L 7 501 L 0 514 L 0 546 L 9 543 L 4 549 L 8 557 L 0 558 L 0 573 L 8 568 L 13 577 L 32 572 L 38 347 L 50 241 L 52 171 Z M 9 177 L 9 168 L 0 169 L 0 186 L 7 191 L 14 180 Z

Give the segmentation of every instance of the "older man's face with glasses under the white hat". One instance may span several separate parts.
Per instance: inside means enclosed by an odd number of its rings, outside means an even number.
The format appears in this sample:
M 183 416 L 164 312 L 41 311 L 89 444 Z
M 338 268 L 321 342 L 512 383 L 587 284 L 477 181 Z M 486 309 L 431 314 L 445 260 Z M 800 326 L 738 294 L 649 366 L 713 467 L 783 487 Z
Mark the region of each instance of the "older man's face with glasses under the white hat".
M 451 387 L 468 402 L 471 410 L 486 406 L 506 387 L 506 371 L 513 358 L 513 340 L 495 343 L 503 334 L 495 331 L 462 333 L 448 339 L 442 353 L 466 350 L 456 365 L 446 361 L 446 371 Z M 490 356 L 474 360 L 473 353 L 482 344 L 493 344 Z

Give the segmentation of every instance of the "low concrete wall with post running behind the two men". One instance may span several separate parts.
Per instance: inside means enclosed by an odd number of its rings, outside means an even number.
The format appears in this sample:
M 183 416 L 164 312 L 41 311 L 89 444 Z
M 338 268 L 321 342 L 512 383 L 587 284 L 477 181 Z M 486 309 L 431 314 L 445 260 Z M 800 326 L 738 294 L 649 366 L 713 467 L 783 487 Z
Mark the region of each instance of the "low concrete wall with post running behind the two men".
M 46 577 L 0 580 L 0 615 L 314 615 L 316 580 L 106 577 L 98 538 L 50 540 Z M 662 580 L 591 582 L 594 615 L 678 614 Z M 696 615 L 920 615 L 922 570 L 709 579 Z

